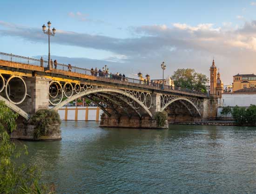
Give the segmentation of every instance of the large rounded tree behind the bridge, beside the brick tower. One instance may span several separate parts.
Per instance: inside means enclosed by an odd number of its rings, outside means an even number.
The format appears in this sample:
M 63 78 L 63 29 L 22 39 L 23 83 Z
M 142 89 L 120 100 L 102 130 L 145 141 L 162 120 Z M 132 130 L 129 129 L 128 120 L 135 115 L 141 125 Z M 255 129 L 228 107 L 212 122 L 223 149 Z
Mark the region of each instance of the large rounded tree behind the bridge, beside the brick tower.
M 177 69 L 172 75 L 177 87 L 206 92 L 207 77 L 194 69 Z

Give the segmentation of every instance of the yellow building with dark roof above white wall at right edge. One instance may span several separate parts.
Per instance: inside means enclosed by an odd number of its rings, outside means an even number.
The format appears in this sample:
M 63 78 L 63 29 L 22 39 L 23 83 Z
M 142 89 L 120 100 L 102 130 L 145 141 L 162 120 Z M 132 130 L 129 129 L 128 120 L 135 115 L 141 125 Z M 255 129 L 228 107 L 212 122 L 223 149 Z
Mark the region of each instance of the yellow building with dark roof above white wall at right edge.
M 237 74 L 233 76 L 233 92 L 243 88 L 256 87 L 256 75 L 254 74 Z

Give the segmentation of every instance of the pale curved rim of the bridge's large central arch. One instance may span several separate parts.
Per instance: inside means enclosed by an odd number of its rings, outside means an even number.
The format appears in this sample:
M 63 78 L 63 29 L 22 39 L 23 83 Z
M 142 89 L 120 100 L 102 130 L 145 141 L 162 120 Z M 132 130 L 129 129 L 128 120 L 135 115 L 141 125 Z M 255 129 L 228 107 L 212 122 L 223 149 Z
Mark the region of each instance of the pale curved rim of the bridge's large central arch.
M 66 100 L 62 101 L 61 103 L 59 103 L 58 105 L 53 107 L 52 110 L 59 110 L 65 104 L 67 104 L 71 101 L 74 101 L 75 99 L 77 99 L 79 97 L 87 96 L 89 94 L 94 94 L 94 93 L 98 93 L 98 92 L 104 92 L 104 93 L 113 92 L 113 93 L 118 93 L 118 94 L 122 94 L 126 97 L 129 97 L 132 100 L 134 100 L 136 103 L 138 103 L 141 106 L 141 108 L 143 108 L 143 110 L 145 110 L 148 113 L 148 115 L 150 117 L 153 117 L 152 113 L 148 110 L 148 108 L 143 103 L 141 103 L 141 101 L 138 100 L 136 97 L 129 94 L 128 92 L 125 92 L 125 91 L 122 91 L 122 90 L 119 90 L 119 89 L 112 89 L 112 88 L 93 88 L 93 89 L 90 89 L 90 90 L 87 90 L 87 91 L 82 91 L 82 92 L 80 92 L 78 94 L 75 94 L 72 97 L 69 97 Z

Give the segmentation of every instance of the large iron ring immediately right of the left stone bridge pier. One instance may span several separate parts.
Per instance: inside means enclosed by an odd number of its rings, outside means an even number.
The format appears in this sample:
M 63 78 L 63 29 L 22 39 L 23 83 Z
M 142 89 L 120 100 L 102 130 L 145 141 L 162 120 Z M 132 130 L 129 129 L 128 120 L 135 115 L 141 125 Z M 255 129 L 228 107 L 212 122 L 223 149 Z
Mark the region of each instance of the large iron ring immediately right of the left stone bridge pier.
M 56 95 L 54 97 L 52 97 L 52 95 L 50 95 L 50 91 L 55 91 Z M 51 81 L 49 84 L 49 103 L 52 104 L 53 106 L 58 105 L 59 103 L 61 103 L 62 98 L 63 98 L 63 89 L 62 86 L 60 84 L 60 82 L 58 81 Z M 59 97 L 59 101 L 56 102 L 56 99 L 58 97 L 58 95 L 61 95 L 61 97 Z

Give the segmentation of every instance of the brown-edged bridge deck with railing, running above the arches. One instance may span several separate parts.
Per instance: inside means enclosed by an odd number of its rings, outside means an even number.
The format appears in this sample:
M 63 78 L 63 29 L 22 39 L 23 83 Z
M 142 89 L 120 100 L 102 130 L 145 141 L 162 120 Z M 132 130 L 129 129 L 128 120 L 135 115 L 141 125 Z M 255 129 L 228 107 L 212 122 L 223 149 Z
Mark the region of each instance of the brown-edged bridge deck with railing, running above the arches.
M 18 58 L 18 61 L 17 61 L 17 58 Z M 21 58 L 21 60 L 20 60 L 20 58 Z M 26 63 L 26 61 L 27 61 L 27 63 Z M 63 65 L 63 64 L 58 64 L 57 69 L 51 68 L 49 70 L 49 68 L 44 67 L 44 66 L 46 66 L 46 64 L 47 64 L 47 61 L 44 61 L 43 65 L 42 65 L 42 63 L 40 64 L 39 59 L 26 58 L 26 57 L 21 57 L 21 56 L 16 56 L 16 55 L 11 55 L 11 54 L 6 54 L 6 53 L 0 52 L 0 73 L 1 72 L 3 73 L 3 71 L 11 69 L 11 71 L 10 71 L 10 74 L 11 74 L 11 72 L 15 71 L 15 69 L 17 70 L 17 72 L 19 72 L 21 69 L 21 70 L 27 70 L 27 71 L 32 71 L 32 72 L 38 71 L 38 72 L 49 73 L 49 74 L 51 74 L 52 77 L 58 77 L 56 75 L 61 75 L 61 76 L 67 76 L 67 77 L 71 77 L 71 78 L 82 78 L 82 79 L 111 83 L 111 84 L 128 85 L 128 86 L 145 88 L 145 89 L 150 89 L 150 90 L 172 92 L 172 93 L 177 93 L 177 94 L 182 94 L 182 95 L 204 97 L 204 98 L 208 97 L 206 94 L 204 94 L 202 92 L 180 89 L 180 88 L 171 89 L 170 86 L 168 86 L 168 85 L 165 85 L 164 90 L 161 90 L 159 85 L 157 87 L 155 85 L 151 85 L 151 83 L 144 84 L 141 80 L 134 79 L 134 78 L 126 78 L 125 81 L 121 81 L 121 80 L 116 80 L 113 78 L 102 78 L 102 77 L 91 76 L 91 75 L 87 74 L 87 73 L 90 73 L 90 70 L 78 68 L 78 67 L 74 67 L 74 66 L 72 66 L 71 71 L 68 71 L 67 70 L 68 65 Z M 6 67 L 8 67 L 8 68 L 6 68 Z M 22 75 L 22 73 L 21 73 L 21 75 Z M 24 73 L 23 76 L 28 76 L 28 75 L 27 75 L 27 73 Z

